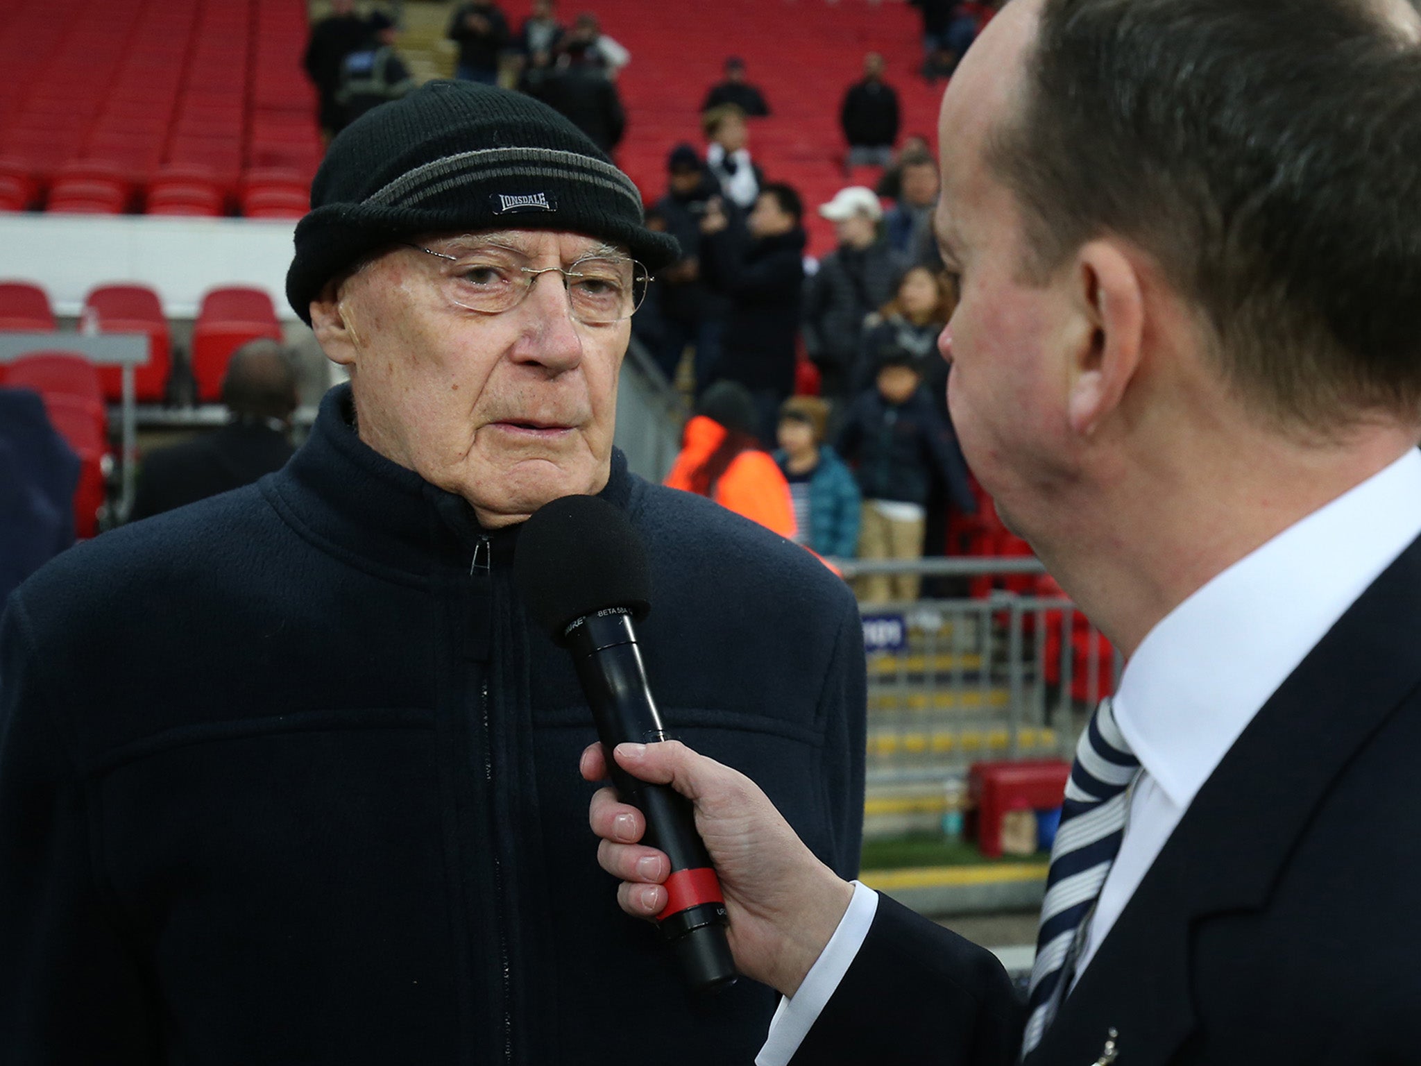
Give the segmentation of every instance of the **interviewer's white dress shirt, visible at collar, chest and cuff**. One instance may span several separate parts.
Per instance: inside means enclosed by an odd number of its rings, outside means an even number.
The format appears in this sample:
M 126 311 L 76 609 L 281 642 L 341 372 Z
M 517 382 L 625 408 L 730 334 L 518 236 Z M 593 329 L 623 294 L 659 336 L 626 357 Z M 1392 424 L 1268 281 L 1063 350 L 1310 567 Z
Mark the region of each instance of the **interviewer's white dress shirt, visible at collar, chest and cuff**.
M 1077 978 L 1223 755 L 1417 537 L 1421 453 L 1410 451 L 1214 577 L 1140 644 L 1120 679 L 1114 711 L 1141 773 L 1120 854 L 1076 964 Z M 784 1066 L 793 1057 L 858 954 L 875 908 L 877 895 L 855 883 L 834 938 L 800 991 L 774 1013 L 756 1066 Z

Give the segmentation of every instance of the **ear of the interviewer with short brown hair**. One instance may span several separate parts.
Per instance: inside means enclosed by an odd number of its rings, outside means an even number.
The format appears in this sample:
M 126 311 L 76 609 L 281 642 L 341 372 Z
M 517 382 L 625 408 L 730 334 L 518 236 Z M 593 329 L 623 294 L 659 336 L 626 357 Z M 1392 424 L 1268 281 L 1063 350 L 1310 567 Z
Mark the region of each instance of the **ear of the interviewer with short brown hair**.
M 1120 407 L 1140 368 L 1144 287 L 1134 260 L 1111 240 L 1080 249 L 1073 284 L 1087 335 L 1073 355 L 1067 415 L 1071 429 L 1088 436 Z

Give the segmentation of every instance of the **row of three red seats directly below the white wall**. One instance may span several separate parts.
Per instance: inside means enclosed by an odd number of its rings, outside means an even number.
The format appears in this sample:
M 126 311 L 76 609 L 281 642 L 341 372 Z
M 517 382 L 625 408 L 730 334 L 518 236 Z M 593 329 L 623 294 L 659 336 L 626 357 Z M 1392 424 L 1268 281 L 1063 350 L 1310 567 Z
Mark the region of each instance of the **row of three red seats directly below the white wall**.
M 99 286 L 84 301 L 85 331 L 141 333 L 148 335 L 149 360 L 134 372 L 134 394 L 139 402 L 162 402 L 172 372 L 172 333 L 158 294 L 146 286 Z M 0 281 L 0 331 L 54 333 L 54 311 L 48 294 L 26 281 Z M 198 399 L 212 402 L 222 388 L 232 352 L 257 338 L 281 340 L 271 297 L 260 289 L 230 286 L 207 293 L 198 311 L 192 334 L 192 374 Z M 58 337 L 57 337 L 58 340 Z M 94 381 L 102 399 L 122 399 L 122 370 L 94 367 Z

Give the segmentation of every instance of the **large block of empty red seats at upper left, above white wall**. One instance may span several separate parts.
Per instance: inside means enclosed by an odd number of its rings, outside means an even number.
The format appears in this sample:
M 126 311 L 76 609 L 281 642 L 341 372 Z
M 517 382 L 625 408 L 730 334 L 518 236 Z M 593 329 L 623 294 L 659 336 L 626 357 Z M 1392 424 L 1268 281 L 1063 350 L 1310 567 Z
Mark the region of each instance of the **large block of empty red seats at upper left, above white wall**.
M 291 217 L 320 163 L 306 6 L 9 0 L 0 210 Z M 9 18 L 9 24 L 7 20 Z M 244 172 L 294 175 L 247 195 Z M 172 172 L 186 185 L 176 193 Z M 192 171 L 205 172 L 193 188 Z

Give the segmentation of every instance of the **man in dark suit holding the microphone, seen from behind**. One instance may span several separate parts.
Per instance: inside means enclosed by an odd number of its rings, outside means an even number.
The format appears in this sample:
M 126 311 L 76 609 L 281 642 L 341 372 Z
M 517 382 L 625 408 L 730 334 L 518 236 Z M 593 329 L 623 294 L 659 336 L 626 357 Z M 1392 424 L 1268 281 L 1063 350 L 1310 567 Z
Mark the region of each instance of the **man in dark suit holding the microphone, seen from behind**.
M 836 878 L 752 782 L 620 749 L 695 800 L 736 958 L 787 996 L 762 1066 L 1421 1060 L 1418 26 L 1015 0 L 963 61 L 952 421 L 1128 657 L 1130 819 L 1033 1046 L 990 955 Z M 603 790 L 591 823 L 655 914 L 641 816 Z

